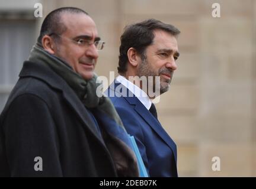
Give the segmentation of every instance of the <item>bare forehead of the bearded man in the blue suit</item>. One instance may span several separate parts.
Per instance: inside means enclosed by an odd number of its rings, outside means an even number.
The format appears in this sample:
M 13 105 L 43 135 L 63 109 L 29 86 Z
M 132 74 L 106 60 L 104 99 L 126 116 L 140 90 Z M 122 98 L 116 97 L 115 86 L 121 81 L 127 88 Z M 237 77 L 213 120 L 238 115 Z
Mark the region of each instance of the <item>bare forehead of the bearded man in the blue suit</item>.
M 166 31 L 155 30 L 155 37 L 153 38 L 152 47 L 156 50 L 169 49 L 178 51 L 178 42 L 174 35 L 169 34 Z

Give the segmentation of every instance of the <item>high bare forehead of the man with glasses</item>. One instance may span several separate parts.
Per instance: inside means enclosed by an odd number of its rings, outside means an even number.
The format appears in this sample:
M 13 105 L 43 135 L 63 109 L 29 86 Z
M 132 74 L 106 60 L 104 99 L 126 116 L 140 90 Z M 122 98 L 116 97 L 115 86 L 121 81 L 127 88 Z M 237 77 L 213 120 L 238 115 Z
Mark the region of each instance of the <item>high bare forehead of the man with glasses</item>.
M 72 14 L 69 12 L 63 13 L 61 16 L 63 24 L 66 26 L 66 35 L 73 37 L 78 35 L 98 36 L 98 31 L 95 22 L 86 14 Z

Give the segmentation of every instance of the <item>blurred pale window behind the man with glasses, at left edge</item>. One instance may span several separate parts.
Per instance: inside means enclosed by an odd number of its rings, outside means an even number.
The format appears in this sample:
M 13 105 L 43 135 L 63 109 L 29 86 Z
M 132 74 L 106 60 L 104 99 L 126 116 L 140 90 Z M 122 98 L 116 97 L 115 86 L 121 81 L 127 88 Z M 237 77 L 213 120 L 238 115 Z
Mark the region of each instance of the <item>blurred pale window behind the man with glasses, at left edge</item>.
M 0 18 L 0 113 L 35 43 L 36 21 Z

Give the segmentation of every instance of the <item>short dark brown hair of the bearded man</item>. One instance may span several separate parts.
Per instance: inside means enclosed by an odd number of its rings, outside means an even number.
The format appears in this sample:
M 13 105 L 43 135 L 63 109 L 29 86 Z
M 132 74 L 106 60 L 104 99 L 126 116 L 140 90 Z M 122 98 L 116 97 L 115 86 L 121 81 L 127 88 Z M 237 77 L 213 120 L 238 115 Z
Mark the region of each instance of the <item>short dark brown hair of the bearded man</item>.
M 180 30 L 173 25 L 165 24 L 157 19 L 147 19 L 136 24 L 128 25 L 124 28 L 123 35 L 121 35 L 119 67 L 117 67 L 119 73 L 125 73 L 127 71 L 127 51 L 129 48 L 135 48 L 140 56 L 143 56 L 146 47 L 153 43 L 153 38 L 155 37 L 153 31 L 155 30 L 164 30 L 175 37 L 180 34 Z

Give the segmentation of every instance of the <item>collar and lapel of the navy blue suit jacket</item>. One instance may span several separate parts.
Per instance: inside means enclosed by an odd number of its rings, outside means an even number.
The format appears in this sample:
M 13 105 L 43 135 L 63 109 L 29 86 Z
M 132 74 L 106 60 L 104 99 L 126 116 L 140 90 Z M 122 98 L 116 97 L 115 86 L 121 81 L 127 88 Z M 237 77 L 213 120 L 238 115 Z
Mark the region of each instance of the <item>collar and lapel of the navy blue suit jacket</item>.
M 129 91 L 129 89 L 127 89 L 125 86 L 123 86 L 123 85 L 120 86 L 120 85 L 122 85 L 122 84 L 117 82 L 117 80 L 114 80 L 114 82 L 110 85 L 110 90 L 113 90 L 113 89 L 115 90 L 119 86 L 120 89 L 127 90 L 126 94 L 131 93 Z M 110 92 L 110 90 L 108 90 L 108 92 Z M 119 93 L 119 90 L 114 91 L 114 92 Z M 125 94 L 125 93 L 122 93 L 122 94 Z M 135 111 L 163 139 L 163 141 L 169 146 L 169 148 L 171 148 L 171 150 L 174 154 L 174 157 L 175 157 L 175 161 L 177 162 L 177 146 L 176 146 L 175 142 L 171 139 L 171 137 L 168 135 L 168 133 L 164 130 L 164 128 L 162 128 L 161 123 L 153 117 L 153 115 L 149 112 L 148 109 L 146 109 L 146 107 L 139 101 L 139 99 L 137 99 L 137 97 L 135 97 L 135 96 L 123 96 L 123 97 L 124 97 L 124 99 L 127 100 L 127 102 L 130 105 L 134 106 Z

